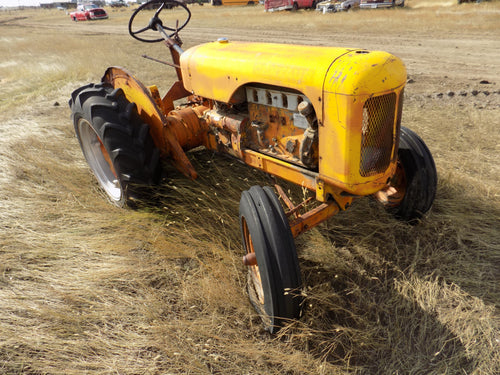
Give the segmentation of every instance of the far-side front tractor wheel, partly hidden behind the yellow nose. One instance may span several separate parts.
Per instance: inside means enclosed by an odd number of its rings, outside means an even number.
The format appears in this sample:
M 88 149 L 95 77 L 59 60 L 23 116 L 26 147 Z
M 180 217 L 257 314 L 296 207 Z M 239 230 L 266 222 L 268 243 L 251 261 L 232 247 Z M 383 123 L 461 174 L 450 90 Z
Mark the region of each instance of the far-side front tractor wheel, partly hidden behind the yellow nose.
M 375 199 L 397 219 L 414 222 L 431 209 L 436 189 L 431 152 L 415 132 L 401 127 L 396 173 L 390 185 L 374 195 Z

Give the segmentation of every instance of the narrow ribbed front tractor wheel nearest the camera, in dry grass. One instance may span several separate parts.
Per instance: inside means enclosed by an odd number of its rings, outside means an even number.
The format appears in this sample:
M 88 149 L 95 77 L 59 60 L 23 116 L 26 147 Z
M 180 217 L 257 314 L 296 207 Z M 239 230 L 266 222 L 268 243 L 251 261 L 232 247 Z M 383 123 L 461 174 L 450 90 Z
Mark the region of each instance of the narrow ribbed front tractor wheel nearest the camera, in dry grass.
M 290 225 L 269 187 L 243 192 L 239 218 L 250 302 L 265 328 L 276 333 L 283 322 L 301 315 L 302 281 Z

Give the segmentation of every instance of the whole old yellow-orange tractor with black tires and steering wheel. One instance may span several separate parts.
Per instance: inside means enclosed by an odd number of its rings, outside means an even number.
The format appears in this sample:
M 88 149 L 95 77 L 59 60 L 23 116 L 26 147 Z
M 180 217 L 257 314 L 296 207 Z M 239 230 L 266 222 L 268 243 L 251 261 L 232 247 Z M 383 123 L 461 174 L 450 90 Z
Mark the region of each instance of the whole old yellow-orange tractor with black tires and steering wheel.
M 186 12 L 185 21 L 164 26 L 162 12 L 174 6 Z M 149 21 L 136 28 L 144 13 Z M 406 70 L 397 57 L 227 39 L 184 51 L 178 32 L 190 17 L 176 0 L 153 0 L 135 10 L 129 33 L 164 42 L 178 80 L 161 97 L 156 86 L 108 68 L 101 83 L 72 94 L 76 135 L 118 206 L 140 195 L 141 185 L 158 183 L 161 159 L 195 179 L 186 151 L 200 146 L 311 191 L 313 197 L 299 205 L 279 186 L 276 192 L 253 186 L 241 196 L 249 297 L 275 332 L 301 314 L 294 238 L 366 196 L 399 219 L 418 220 L 433 203 L 436 168 L 421 138 L 401 126 Z

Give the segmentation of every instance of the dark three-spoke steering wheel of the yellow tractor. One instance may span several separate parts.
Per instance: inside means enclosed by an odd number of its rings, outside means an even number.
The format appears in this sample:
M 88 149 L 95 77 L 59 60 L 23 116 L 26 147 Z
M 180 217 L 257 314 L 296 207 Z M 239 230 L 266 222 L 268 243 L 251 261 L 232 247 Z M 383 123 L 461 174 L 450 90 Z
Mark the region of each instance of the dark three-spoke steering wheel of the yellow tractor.
M 132 24 L 134 23 L 135 17 L 139 14 L 139 12 L 143 10 L 149 10 L 151 8 L 155 8 L 158 6 L 158 9 L 156 10 L 155 14 L 153 17 L 149 20 L 149 24 L 146 27 L 143 27 L 142 29 L 139 30 L 132 30 Z M 164 9 L 171 9 L 175 6 L 180 6 L 182 7 L 186 12 L 187 12 L 187 17 L 184 23 L 176 28 L 171 28 L 167 26 L 163 26 L 163 22 L 160 19 L 160 13 Z M 171 34 L 168 35 L 168 37 L 174 36 L 178 31 L 182 30 L 189 22 L 191 19 L 191 12 L 188 9 L 188 7 L 177 0 L 151 0 L 148 1 L 147 3 L 142 4 L 139 8 L 137 8 L 134 13 L 132 13 L 132 16 L 130 17 L 130 20 L 128 21 L 128 33 L 132 36 L 132 38 L 137 39 L 141 42 L 145 43 L 156 43 L 156 42 L 161 42 L 165 40 L 165 38 L 156 38 L 156 39 L 151 39 L 151 38 L 144 38 L 141 36 L 138 36 L 138 34 L 144 33 L 148 30 L 154 30 L 154 31 L 159 31 L 160 34 L 163 34 L 165 30 L 172 31 Z M 166 33 L 164 33 L 167 35 Z

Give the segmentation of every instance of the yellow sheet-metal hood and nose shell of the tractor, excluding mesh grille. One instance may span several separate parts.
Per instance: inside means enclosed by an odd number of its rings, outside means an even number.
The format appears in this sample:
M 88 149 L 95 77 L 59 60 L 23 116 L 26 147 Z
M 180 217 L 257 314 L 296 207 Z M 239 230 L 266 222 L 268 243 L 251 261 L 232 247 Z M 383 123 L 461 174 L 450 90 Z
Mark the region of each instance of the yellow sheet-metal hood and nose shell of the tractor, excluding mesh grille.
M 361 176 L 360 151 L 366 100 L 390 92 L 399 98 L 404 88 L 406 70 L 397 57 L 380 51 L 224 41 L 187 50 L 180 64 L 187 91 L 225 103 L 243 102 L 242 87 L 247 84 L 304 94 L 319 121 L 318 178 L 324 186 L 317 192 L 318 200 L 338 195 L 339 189 L 353 195 L 372 194 L 394 173 L 396 163 L 391 158 L 385 171 Z M 395 113 L 393 134 L 397 126 Z M 280 173 L 301 184 L 302 177 L 294 168 L 280 169 Z

